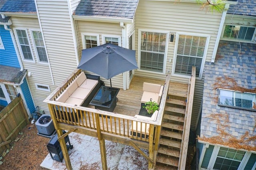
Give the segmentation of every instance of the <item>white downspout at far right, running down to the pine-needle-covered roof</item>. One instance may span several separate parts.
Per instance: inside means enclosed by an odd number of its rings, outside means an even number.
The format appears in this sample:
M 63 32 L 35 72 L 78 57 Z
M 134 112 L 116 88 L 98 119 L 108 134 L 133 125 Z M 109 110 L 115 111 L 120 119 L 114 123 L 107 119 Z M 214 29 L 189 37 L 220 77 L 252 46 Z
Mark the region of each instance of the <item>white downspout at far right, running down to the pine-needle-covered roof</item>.
M 219 27 L 219 30 L 218 30 L 218 34 L 217 34 L 217 37 L 216 37 L 216 42 L 215 42 L 213 53 L 212 53 L 212 63 L 214 63 L 214 61 L 215 61 L 215 57 L 216 57 L 219 42 L 220 42 L 220 36 L 222 34 L 224 21 L 226 19 L 226 14 L 227 14 L 228 8 L 229 8 L 229 4 L 225 4 L 225 8 L 224 8 L 224 11 L 222 13 L 221 20 L 220 20 L 220 27 Z

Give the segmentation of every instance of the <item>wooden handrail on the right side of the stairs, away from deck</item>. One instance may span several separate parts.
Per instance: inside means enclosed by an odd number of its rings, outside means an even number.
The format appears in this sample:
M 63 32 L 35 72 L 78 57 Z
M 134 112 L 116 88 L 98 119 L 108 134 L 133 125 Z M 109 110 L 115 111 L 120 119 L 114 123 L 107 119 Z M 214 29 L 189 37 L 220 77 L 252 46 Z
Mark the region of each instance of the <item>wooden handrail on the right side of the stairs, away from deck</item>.
M 178 164 L 178 170 L 184 170 L 186 168 L 188 140 L 189 140 L 189 133 L 190 133 L 195 83 L 196 83 L 196 67 L 193 66 L 192 74 L 188 84 L 188 96 L 187 96 L 187 103 L 186 103 L 186 111 L 185 111 L 184 127 L 183 127 L 183 133 L 182 133 L 182 142 L 181 142 L 181 148 L 180 148 L 180 160 Z

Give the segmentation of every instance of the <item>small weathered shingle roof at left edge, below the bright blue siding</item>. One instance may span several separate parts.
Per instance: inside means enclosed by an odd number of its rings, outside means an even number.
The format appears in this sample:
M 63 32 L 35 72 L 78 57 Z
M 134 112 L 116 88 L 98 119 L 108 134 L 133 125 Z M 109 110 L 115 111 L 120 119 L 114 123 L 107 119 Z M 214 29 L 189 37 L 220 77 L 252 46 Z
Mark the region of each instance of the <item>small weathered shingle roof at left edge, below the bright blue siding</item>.
M 19 84 L 27 70 L 20 71 L 20 68 L 1 65 L 0 82 Z

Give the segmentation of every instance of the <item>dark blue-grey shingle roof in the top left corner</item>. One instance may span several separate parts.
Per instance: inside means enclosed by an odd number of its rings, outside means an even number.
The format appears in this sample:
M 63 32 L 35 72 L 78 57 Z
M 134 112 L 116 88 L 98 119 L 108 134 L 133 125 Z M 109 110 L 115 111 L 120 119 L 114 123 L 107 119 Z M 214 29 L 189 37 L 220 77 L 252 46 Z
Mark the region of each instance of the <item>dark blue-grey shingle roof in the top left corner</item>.
M 1 0 L 0 12 L 36 12 L 34 0 Z

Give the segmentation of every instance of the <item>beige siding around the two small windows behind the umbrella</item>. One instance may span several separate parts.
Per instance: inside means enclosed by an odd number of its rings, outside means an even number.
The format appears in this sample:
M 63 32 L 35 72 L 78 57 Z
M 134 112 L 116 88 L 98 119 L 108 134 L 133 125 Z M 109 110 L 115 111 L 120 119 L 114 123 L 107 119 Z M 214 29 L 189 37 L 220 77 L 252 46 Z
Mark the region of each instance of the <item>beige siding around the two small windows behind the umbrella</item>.
M 102 45 L 102 35 L 108 36 L 120 36 L 122 37 L 122 28 L 119 23 L 106 23 L 106 22 L 92 22 L 92 21 L 77 21 L 78 36 L 80 49 L 82 46 L 82 33 L 84 34 L 99 34 L 100 45 Z M 91 73 L 93 74 L 93 73 Z M 101 77 L 105 85 L 110 86 L 110 80 L 106 80 Z M 117 75 L 111 79 L 112 87 L 123 88 L 123 76 Z

